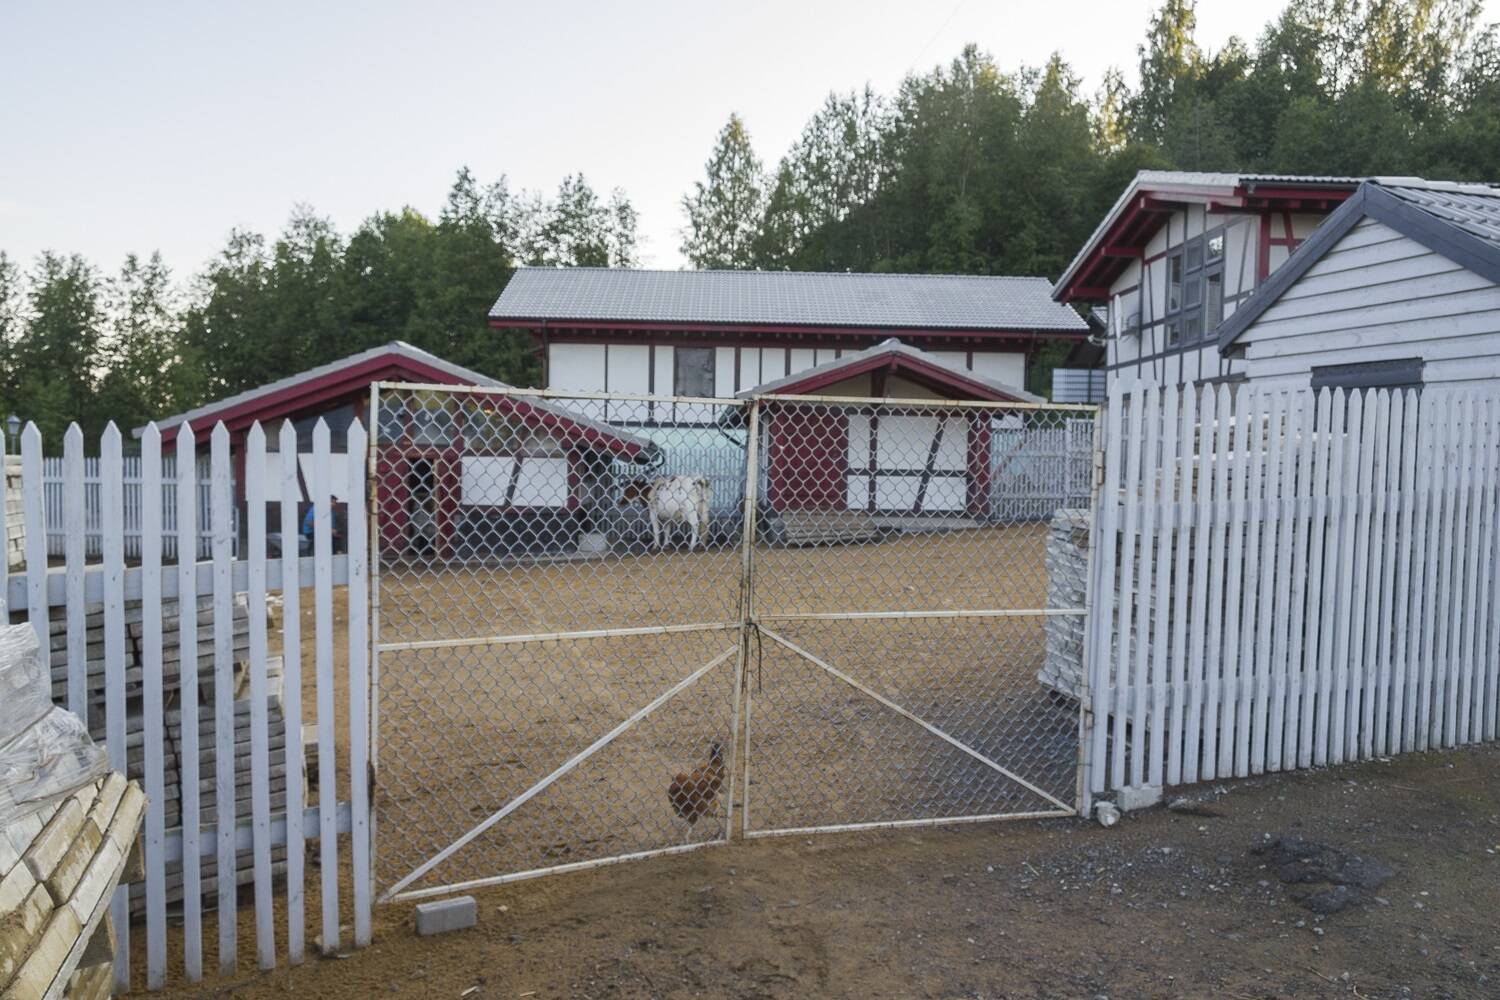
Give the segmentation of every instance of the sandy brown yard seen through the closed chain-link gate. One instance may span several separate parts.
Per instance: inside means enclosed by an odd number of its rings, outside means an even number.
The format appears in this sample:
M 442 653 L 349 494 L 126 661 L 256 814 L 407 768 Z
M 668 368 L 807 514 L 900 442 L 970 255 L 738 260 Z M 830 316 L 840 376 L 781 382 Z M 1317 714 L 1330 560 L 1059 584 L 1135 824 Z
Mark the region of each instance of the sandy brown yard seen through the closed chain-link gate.
M 903 535 L 758 553 L 756 607 L 777 613 L 1042 606 L 1041 526 Z M 394 567 L 384 642 L 694 625 L 738 616 L 740 555 Z M 770 622 L 752 651 L 752 829 L 1068 808 L 1077 711 L 1038 684 L 1042 618 Z M 834 678 L 777 636 L 999 762 L 992 769 Z M 464 643 L 381 654 L 376 874 L 392 885 L 622 720 L 705 669 L 414 888 L 724 835 L 730 796 L 692 829 L 674 775 L 722 745 L 738 774 L 738 630 Z M 746 720 L 741 718 L 741 723 Z M 742 732 L 742 729 L 740 730 Z M 734 802 L 742 819 L 747 790 Z M 1052 796 L 1052 798 L 1047 798 Z

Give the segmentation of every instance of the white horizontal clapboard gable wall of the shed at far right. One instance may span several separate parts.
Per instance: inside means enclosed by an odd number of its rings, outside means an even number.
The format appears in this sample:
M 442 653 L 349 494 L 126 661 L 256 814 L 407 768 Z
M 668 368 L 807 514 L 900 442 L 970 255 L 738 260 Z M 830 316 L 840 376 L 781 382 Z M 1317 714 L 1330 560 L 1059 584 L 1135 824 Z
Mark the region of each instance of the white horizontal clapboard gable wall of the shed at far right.
M 1422 357 L 1426 384 L 1500 376 L 1500 286 L 1366 219 L 1262 313 L 1239 343 L 1257 382 L 1312 367 Z

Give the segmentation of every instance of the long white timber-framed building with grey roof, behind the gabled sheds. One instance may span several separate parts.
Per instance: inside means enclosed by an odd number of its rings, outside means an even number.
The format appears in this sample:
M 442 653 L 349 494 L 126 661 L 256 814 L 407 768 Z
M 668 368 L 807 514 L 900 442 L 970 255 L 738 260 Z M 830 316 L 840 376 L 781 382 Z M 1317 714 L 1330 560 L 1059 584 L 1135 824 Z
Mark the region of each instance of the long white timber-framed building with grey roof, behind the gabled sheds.
M 524 267 L 489 321 L 531 333 L 548 388 L 693 397 L 732 397 L 888 337 L 1024 390 L 1041 343 L 1088 333 L 1046 279 L 970 274 Z M 610 420 L 670 420 L 615 406 Z

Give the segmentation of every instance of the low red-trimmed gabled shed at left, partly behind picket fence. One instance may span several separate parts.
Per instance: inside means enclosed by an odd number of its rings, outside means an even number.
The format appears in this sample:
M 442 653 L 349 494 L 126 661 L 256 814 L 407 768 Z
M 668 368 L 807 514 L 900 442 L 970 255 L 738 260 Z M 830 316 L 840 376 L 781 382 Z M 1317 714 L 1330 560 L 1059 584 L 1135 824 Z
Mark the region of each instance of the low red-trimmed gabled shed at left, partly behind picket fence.
M 308 369 L 297 375 L 246 390 L 184 414 L 158 421 L 164 444 L 176 444 L 183 424 L 194 430 L 202 456 L 222 423 L 230 433 L 236 499 L 244 499 L 246 435 L 255 423 L 266 430 L 272 481 L 280 477 L 280 427 L 297 430 L 303 499 L 310 475 L 312 430 L 322 420 L 330 432 L 330 478 L 346 481 L 350 462 L 346 433 L 368 423 L 372 382 L 414 382 L 506 390 L 504 382 L 446 361 L 410 343 L 393 340 L 369 351 Z M 585 492 L 609 463 L 636 460 L 650 442 L 591 421 L 566 406 L 543 400 L 454 393 L 440 405 L 381 406 L 378 472 L 382 549 L 402 549 L 417 541 L 423 549 L 448 552 L 462 532 L 483 538 L 508 522 L 544 520 L 549 538 L 576 537 L 578 510 Z M 489 414 L 525 433 L 508 444 L 486 441 L 474 433 L 465 414 Z M 135 429 L 135 436 L 144 433 Z M 508 477 L 508 478 L 506 478 Z M 500 493 L 495 484 L 508 483 Z M 466 492 L 465 492 L 466 490 Z M 334 499 L 342 501 L 339 490 Z M 336 511 L 338 516 L 338 511 Z M 270 531 L 279 523 L 279 505 L 268 504 Z M 418 531 L 420 528 L 420 531 Z M 296 526 L 290 528 L 296 531 Z M 285 529 L 284 529 L 285 534 Z

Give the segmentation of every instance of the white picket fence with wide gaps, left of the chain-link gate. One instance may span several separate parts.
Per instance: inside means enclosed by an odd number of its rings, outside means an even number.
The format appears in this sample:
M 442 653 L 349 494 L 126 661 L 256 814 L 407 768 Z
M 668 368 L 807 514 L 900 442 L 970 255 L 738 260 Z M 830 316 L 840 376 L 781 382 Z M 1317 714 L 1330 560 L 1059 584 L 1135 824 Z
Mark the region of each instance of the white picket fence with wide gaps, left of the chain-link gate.
M 298 556 L 296 546 L 278 558 L 267 558 L 266 510 L 268 502 L 279 502 L 282 523 L 298 523 L 297 510 L 302 501 L 302 486 L 297 475 L 296 430 L 286 423 L 280 432 L 280 477 L 267 472 L 266 436 L 255 426 L 246 441 L 246 531 L 248 558 L 234 558 L 237 532 L 236 498 L 231 480 L 230 435 L 220 424 L 214 429 L 208 448 L 208 504 L 198 502 L 201 484 L 198 478 L 196 445 L 194 435 L 183 427 L 176 438 L 176 460 L 164 456 L 162 441 L 154 427 L 141 439 L 140 468 L 140 564 L 126 565 L 126 460 L 122 454 L 120 432 L 111 424 L 99 444 L 99 535 L 100 559 L 90 562 L 84 544 L 84 486 L 86 465 L 82 436 L 76 427 L 64 441 L 63 462 L 63 534 L 66 537 L 64 564 L 48 568 L 50 510 L 44 492 L 44 442 L 34 426 L 27 426 L 21 436 L 22 508 L 26 516 L 26 570 L 8 574 L 0 565 L 0 595 L 6 598 L 9 613 L 18 618 L 24 613 L 36 627 L 42 648 L 50 646 L 51 622 L 66 622 L 66 703 L 74 711 L 87 711 L 88 645 L 100 642 L 84 631 L 86 615 L 102 607 L 102 649 L 105 684 L 105 744 L 111 765 L 126 769 L 126 718 L 140 720 L 144 727 L 144 784 L 148 796 L 142 831 L 146 852 L 146 976 L 147 988 L 158 990 L 166 982 L 168 945 L 176 931 L 168 924 L 166 870 L 170 862 L 182 862 L 182 922 L 180 940 L 176 942 L 188 979 L 202 976 L 204 961 L 204 913 L 201 906 L 200 862 L 216 858 L 218 925 L 216 958 L 220 973 L 232 973 L 237 967 L 236 919 L 237 885 L 231 877 L 237 868 L 236 855 L 254 855 L 254 910 L 255 910 L 255 958 L 260 969 L 272 969 L 278 954 L 292 963 L 300 963 L 306 954 L 308 919 L 304 915 L 306 871 L 304 861 L 309 840 L 315 840 L 320 856 L 321 943 L 324 952 L 339 948 L 339 846 L 340 835 L 346 838 L 352 873 L 352 931 L 354 945 L 370 940 L 370 826 L 369 826 L 369 610 L 368 610 L 368 531 L 366 531 L 366 483 L 364 465 L 350 462 L 348 483 L 333 483 L 334 466 L 328 460 L 328 429 L 318 423 L 314 430 L 314 463 L 309 499 L 316 505 L 314 519 L 314 555 Z M 364 454 L 366 432 L 358 426 L 350 429 L 350 453 Z M 0 444 L 3 462 L 3 444 Z M 3 486 L 0 486 L 3 489 Z M 345 492 L 346 490 L 346 492 Z M 348 555 L 333 555 L 333 495 L 342 493 L 346 504 Z M 158 502 L 150 502 L 159 498 Z M 0 508 L 4 496 L 0 495 Z M 183 517 L 170 519 L 168 511 L 182 511 Z M 327 511 L 327 514 L 324 514 Z M 4 531 L 0 526 L 0 531 Z M 168 535 L 180 549 L 164 544 Z M 207 561 L 186 561 L 164 565 L 164 552 L 196 552 L 201 537 L 210 538 Z M 4 538 L 0 537 L 0 543 Z M 346 588 L 346 624 L 334 622 L 334 586 Z M 312 591 L 314 604 L 314 655 L 303 663 L 302 639 L 302 592 Z M 282 657 L 282 714 L 285 718 L 284 747 L 270 747 L 267 729 L 267 661 L 273 636 L 268 634 L 267 594 L 280 591 L 284 597 L 280 657 Z M 200 621 L 198 601 L 178 603 L 182 618 L 178 628 L 180 664 L 174 664 L 180 682 L 182 742 L 172 751 L 180 760 L 182 828 L 166 829 L 164 796 L 164 657 L 162 624 L 164 600 L 178 595 L 212 597 L 212 607 Z M 236 765 L 243 760 L 243 747 L 236 744 L 236 649 L 234 601 L 243 595 L 249 606 L 249 816 L 236 814 Z M 126 607 L 138 603 L 140 631 L 128 633 Z M 132 610 L 134 615 L 134 610 Z M 208 706 L 200 706 L 198 699 L 198 630 L 213 636 L 213 705 L 212 729 L 207 720 Z M 346 663 L 336 663 L 334 633 L 346 630 Z M 140 703 L 126 703 L 126 643 L 136 643 L 141 678 L 129 678 L 140 684 Z M 315 807 L 297 808 L 304 802 L 303 744 L 300 739 L 304 708 L 302 705 L 303 672 L 310 667 L 315 678 L 316 705 L 309 721 L 316 723 L 318 742 L 318 801 Z M 346 670 L 348 720 L 339 730 L 336 723 L 336 670 Z M 136 690 L 132 687 L 132 691 Z M 212 732 L 214 739 L 213 789 L 216 822 L 202 823 L 200 814 L 200 781 L 208 775 L 198 774 L 200 724 Z M 243 724 L 242 724 L 243 727 Z M 340 741 L 339 736 L 344 736 Z M 346 750 L 336 751 L 342 744 Z M 342 753 L 342 759 L 340 759 Z M 238 754 L 238 756 L 237 756 Z M 340 783 L 336 768 L 346 768 Z M 285 801 L 288 808 L 272 813 L 270 775 L 273 768 L 285 774 Z M 342 784 L 342 789 L 340 789 Z M 210 787 L 204 784 L 202 787 Z M 339 799 L 339 792 L 346 801 Z M 243 798 L 243 796 L 242 796 Z M 274 885 L 272 850 L 285 850 L 285 879 Z M 228 874 L 226 874 L 228 873 Z M 126 988 L 130 982 L 129 967 L 129 921 L 128 892 L 120 889 L 112 903 L 112 919 L 118 933 L 116 949 L 116 982 Z M 284 907 L 286 936 L 276 940 L 274 909 Z

